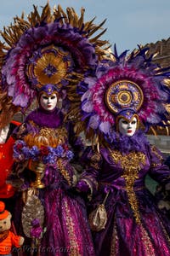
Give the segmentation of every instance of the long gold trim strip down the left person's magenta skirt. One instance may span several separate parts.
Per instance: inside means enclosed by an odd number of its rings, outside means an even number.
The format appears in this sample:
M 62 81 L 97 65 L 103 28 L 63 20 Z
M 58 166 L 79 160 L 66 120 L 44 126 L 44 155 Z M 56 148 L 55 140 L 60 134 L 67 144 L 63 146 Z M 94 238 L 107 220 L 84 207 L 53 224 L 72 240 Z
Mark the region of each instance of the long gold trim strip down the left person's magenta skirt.
M 69 255 L 70 256 L 81 256 L 82 254 L 79 252 L 79 247 L 77 244 L 77 237 L 75 236 L 75 227 L 73 224 L 73 220 L 71 218 L 71 212 L 70 209 L 68 207 L 67 202 L 64 202 L 65 204 L 65 212 L 66 212 L 66 227 L 68 230 L 68 236 L 69 236 L 69 240 L 70 240 L 70 251 L 69 251 Z

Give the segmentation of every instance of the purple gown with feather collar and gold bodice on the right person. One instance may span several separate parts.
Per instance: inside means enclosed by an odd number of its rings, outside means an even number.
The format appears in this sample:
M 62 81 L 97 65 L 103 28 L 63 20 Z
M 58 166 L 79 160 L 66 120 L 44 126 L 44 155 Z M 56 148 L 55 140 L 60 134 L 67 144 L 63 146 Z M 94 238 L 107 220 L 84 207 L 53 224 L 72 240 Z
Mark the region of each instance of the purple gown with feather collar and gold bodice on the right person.
M 95 154 L 90 148 L 86 159 L 89 162 L 93 155 L 88 171 L 99 181 L 89 212 L 104 201 L 110 190 L 105 203 L 105 229 L 93 232 L 96 255 L 170 255 L 169 220 L 144 185 L 146 174 L 159 183 L 169 183 L 170 170 L 162 164 L 160 152 L 139 132 L 133 137 L 115 137 L 112 145 L 100 148 L 98 163 L 94 164 Z

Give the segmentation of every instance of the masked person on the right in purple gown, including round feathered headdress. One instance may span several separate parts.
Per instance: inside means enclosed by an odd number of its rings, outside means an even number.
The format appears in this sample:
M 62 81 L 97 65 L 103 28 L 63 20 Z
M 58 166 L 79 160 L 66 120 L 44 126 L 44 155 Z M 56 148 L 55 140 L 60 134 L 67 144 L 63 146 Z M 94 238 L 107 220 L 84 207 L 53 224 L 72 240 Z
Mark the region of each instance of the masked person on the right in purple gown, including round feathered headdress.
M 77 187 L 88 191 L 93 179 L 99 183 L 89 207 L 96 255 L 166 256 L 170 222 L 144 178 L 148 174 L 166 186 L 170 170 L 144 133 L 169 118 L 170 90 L 164 80 L 169 72 L 151 62 L 147 49 L 128 56 L 115 49 L 114 57 L 101 61 L 95 75 L 77 86 L 79 130 L 85 126 L 86 136 L 96 143 L 96 150 L 92 146 L 84 154 L 87 172 Z

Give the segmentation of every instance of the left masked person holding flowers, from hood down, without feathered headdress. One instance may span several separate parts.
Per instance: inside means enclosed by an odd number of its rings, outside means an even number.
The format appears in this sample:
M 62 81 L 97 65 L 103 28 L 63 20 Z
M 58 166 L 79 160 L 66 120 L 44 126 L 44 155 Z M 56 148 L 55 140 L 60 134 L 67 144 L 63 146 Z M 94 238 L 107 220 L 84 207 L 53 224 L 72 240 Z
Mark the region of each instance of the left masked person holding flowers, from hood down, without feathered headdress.
M 63 123 L 54 85 L 43 85 L 37 98 L 40 107 L 14 132 L 19 162 L 14 172 L 24 181 L 22 229 L 27 237 L 42 238 L 41 255 L 94 255 L 86 207 L 71 192 L 76 183 L 71 160 L 78 163 L 82 142 Z

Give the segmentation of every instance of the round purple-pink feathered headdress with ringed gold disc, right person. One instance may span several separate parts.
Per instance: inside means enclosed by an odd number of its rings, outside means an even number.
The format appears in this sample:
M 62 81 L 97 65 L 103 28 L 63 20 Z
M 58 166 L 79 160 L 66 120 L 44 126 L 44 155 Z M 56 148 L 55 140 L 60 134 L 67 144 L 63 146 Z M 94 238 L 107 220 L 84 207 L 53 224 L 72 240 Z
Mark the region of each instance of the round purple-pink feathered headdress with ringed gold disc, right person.
M 117 55 L 115 47 L 114 58 L 100 61 L 94 75 L 87 73 L 78 84 L 71 111 L 79 119 L 77 131 L 85 131 L 88 138 L 108 135 L 117 114 L 125 109 L 138 113 L 147 128 L 165 125 L 169 119 L 166 104 L 170 102 L 170 88 L 165 83 L 168 69 L 153 63 L 147 49 L 139 48 L 127 56 L 127 51 Z

